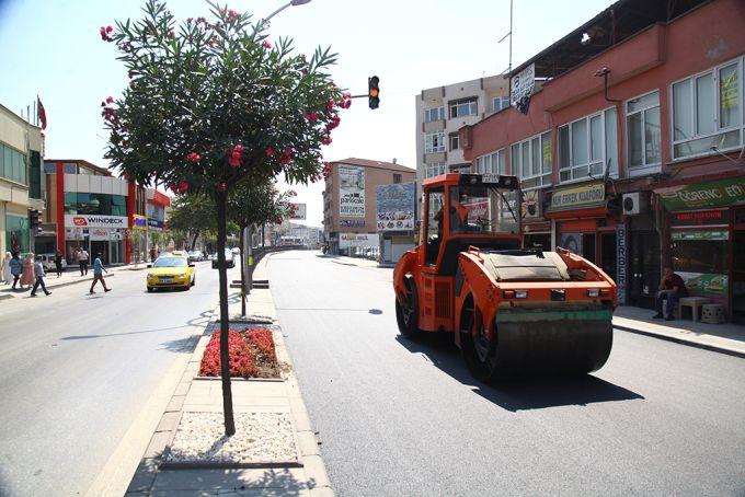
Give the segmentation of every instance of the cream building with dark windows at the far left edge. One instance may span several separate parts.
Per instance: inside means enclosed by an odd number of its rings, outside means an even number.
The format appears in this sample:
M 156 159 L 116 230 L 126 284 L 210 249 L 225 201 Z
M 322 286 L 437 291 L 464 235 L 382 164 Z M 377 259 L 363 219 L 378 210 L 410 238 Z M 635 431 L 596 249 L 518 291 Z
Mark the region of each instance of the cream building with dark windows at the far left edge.
M 38 215 L 44 212 L 42 129 L 0 105 L 0 250 L 35 252 Z

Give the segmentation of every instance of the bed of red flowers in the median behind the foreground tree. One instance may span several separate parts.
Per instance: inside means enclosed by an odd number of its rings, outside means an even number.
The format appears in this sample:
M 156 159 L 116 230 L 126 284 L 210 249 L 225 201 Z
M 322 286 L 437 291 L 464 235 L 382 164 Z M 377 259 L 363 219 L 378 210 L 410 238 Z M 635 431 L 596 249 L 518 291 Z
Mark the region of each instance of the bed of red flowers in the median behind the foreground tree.
M 277 357 L 272 332 L 265 328 L 245 328 L 228 332 L 230 375 L 240 378 L 277 377 Z M 220 375 L 220 332 L 213 333 L 202 356 L 199 375 Z

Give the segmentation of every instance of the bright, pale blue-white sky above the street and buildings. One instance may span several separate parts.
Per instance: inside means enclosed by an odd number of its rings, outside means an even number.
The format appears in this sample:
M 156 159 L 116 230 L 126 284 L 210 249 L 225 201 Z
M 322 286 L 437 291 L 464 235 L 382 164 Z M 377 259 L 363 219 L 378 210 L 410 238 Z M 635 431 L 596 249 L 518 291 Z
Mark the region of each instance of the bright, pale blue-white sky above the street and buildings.
M 285 0 L 228 5 L 261 18 Z M 207 15 L 204 0 L 172 0 L 181 19 Z M 515 0 L 513 61 L 517 65 L 608 7 L 608 0 Z M 85 159 L 106 166 L 100 103 L 127 84 L 115 47 L 98 30 L 139 18 L 142 1 L 0 0 L 0 103 L 19 113 L 36 94 L 47 111 L 47 158 Z M 422 89 L 501 73 L 508 65 L 509 0 L 311 0 L 273 21 L 272 37 L 291 36 L 301 53 L 331 45 L 336 83 L 367 91 L 380 78 L 380 108 L 354 101 L 342 114 L 326 160 L 359 157 L 416 166 L 414 97 Z M 25 112 L 25 111 L 24 111 Z M 308 223 L 320 226 L 321 185 L 297 187 Z

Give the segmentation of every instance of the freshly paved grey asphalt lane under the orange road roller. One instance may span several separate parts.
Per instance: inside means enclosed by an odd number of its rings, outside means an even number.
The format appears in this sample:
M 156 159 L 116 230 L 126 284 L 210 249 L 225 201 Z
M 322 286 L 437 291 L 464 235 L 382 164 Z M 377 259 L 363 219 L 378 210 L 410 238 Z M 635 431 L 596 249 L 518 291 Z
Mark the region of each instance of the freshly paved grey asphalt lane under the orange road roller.
M 318 252 L 270 281 L 340 496 L 745 495 L 745 360 L 617 331 L 578 380 L 474 382 L 399 336 L 391 269 Z

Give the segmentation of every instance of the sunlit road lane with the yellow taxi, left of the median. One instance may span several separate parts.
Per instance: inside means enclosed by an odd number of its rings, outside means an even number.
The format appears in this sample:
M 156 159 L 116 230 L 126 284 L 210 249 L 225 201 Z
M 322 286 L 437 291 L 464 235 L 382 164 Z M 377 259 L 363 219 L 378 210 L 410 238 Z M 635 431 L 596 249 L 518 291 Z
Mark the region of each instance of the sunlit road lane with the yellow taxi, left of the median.
M 144 270 L 108 285 L 0 301 L 0 495 L 84 494 L 217 302 L 209 263 L 190 291 L 147 293 Z

